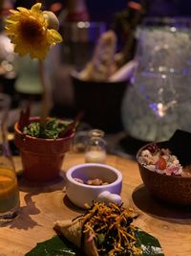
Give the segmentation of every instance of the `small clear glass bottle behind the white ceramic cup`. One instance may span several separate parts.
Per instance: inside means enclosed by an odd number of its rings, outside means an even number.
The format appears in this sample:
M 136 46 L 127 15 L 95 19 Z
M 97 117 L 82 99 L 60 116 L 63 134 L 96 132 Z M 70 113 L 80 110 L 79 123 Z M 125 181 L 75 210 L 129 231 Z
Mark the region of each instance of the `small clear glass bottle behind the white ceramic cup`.
M 89 135 L 90 138 L 85 151 L 86 163 L 105 163 L 107 153 L 106 142 L 103 139 L 104 131 L 101 129 L 92 129 Z

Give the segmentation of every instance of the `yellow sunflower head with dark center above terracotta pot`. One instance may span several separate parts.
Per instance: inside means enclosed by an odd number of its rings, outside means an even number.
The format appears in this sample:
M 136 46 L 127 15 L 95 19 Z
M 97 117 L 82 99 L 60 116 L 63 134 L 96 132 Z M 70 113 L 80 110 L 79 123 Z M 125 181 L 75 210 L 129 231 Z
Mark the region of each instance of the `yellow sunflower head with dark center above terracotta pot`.
M 18 7 L 18 11 L 10 10 L 6 33 L 15 46 L 14 51 L 20 56 L 30 54 L 31 58 L 43 60 L 51 46 L 62 41 L 62 36 L 52 29 L 47 12 L 41 11 L 41 6 L 37 3 L 30 10 L 22 7 Z

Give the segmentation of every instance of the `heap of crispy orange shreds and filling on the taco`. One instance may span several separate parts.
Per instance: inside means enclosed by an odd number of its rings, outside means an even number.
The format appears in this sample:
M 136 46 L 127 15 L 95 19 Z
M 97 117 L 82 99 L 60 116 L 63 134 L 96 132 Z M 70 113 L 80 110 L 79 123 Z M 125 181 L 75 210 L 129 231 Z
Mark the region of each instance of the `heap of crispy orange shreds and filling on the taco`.
M 138 215 L 122 204 L 96 202 L 80 216 L 83 233 L 93 238 L 99 255 L 140 255 L 136 237 L 137 227 L 132 224 Z M 88 241 L 89 241 L 88 240 Z

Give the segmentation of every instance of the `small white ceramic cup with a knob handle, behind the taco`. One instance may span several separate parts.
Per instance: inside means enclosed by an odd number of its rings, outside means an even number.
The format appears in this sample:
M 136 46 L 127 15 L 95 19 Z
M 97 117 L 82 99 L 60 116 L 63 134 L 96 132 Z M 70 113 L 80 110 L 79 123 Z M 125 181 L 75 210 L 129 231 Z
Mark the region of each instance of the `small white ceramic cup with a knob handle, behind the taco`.
M 107 185 L 87 185 L 80 183 L 75 178 L 87 181 L 99 178 Z M 120 192 L 122 188 L 122 175 L 114 167 L 98 164 L 85 163 L 75 165 L 66 173 L 66 194 L 78 207 L 85 208 L 85 204 L 92 205 L 93 201 L 121 202 Z

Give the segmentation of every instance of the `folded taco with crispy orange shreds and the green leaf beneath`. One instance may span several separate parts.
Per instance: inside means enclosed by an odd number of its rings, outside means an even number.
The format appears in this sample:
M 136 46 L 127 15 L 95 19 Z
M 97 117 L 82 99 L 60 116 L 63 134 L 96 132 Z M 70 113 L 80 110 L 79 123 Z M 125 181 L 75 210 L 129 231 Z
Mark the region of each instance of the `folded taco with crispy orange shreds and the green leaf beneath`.
M 137 217 L 122 204 L 96 202 L 73 221 L 56 221 L 57 236 L 26 256 L 164 256 L 159 241 L 132 224 Z

